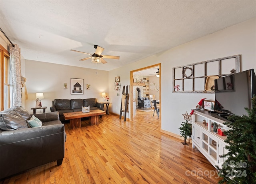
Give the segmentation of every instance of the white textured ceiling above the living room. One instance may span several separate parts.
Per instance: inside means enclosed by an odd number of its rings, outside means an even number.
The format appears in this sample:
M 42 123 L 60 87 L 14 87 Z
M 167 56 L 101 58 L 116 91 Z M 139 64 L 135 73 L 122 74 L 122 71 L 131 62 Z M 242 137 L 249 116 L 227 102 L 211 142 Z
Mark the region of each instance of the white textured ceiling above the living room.
M 113 70 L 256 17 L 256 1 L 0 0 L 0 27 L 27 60 Z M 79 61 L 120 56 L 106 64 Z

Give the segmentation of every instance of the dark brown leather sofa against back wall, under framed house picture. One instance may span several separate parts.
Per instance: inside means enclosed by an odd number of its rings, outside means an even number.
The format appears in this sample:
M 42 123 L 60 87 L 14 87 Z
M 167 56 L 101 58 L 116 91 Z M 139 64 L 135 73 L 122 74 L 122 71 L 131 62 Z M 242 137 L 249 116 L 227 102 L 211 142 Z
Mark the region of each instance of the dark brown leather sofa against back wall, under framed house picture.
M 52 106 L 50 107 L 51 112 L 58 111 L 60 115 L 60 121 L 64 122 L 65 118 L 63 113 L 66 112 L 78 112 L 82 111 L 82 106 L 90 106 L 90 110 L 100 109 L 103 110 L 104 104 L 97 102 L 96 98 L 86 98 L 86 99 L 54 99 L 52 101 Z

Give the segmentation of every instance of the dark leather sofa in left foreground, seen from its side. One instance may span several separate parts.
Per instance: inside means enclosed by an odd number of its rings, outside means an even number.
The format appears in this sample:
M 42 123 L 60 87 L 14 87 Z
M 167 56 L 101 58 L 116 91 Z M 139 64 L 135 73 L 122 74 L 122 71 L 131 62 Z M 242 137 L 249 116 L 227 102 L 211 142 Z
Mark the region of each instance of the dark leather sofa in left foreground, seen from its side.
M 33 114 L 42 126 L 28 128 L 29 114 L 23 107 L 0 112 L 0 178 L 57 160 L 65 150 L 64 124 L 58 112 Z

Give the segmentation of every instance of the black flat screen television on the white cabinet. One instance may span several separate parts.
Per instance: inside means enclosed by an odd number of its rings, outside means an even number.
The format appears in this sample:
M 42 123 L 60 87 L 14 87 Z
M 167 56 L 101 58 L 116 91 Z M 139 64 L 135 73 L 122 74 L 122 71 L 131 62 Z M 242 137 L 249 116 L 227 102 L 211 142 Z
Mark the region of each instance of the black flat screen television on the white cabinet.
M 252 108 L 252 97 L 256 95 L 254 70 L 246 70 L 214 80 L 215 107 L 218 115 L 246 115 L 245 107 Z

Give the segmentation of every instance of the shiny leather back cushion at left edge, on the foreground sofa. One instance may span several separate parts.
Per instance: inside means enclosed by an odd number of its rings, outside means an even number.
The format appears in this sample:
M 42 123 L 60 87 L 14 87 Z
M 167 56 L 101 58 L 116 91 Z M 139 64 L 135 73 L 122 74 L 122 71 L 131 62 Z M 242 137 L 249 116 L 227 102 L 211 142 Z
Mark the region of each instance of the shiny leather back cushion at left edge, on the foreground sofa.
M 6 114 L 0 114 L 0 130 L 7 131 L 23 128 L 28 128 L 28 125 L 24 118 L 17 112 L 10 111 Z

